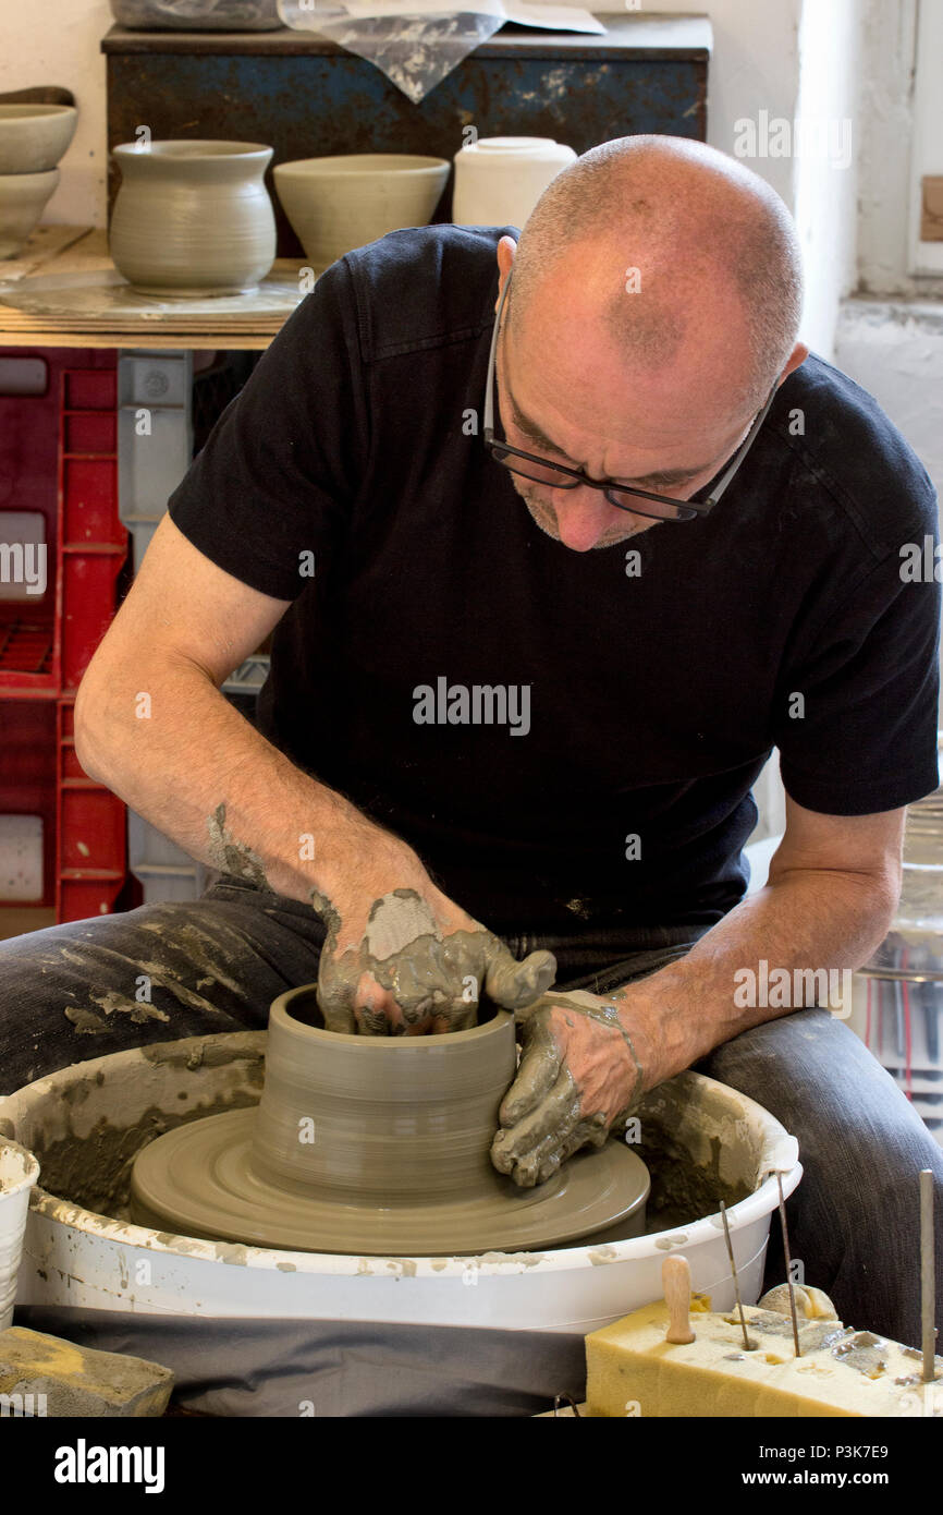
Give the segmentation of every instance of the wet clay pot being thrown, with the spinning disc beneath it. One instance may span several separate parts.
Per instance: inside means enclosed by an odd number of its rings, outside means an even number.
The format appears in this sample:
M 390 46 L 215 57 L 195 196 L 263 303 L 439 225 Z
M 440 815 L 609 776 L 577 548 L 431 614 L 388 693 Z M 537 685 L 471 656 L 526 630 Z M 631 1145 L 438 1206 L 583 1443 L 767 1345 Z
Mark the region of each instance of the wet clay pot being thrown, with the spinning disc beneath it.
M 649 1179 L 619 1141 L 521 1189 L 490 1162 L 516 1067 L 507 1011 L 442 1036 L 328 1032 L 316 986 L 271 1007 L 257 1110 L 180 1126 L 142 1148 L 136 1224 L 365 1256 L 450 1256 L 643 1230 Z

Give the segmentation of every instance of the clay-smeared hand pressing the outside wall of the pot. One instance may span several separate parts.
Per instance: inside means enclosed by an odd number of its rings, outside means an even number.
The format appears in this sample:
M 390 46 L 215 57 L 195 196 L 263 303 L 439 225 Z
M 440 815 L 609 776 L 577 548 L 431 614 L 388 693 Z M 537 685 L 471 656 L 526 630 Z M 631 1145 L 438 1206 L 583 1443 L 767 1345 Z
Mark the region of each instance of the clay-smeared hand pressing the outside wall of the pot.
M 500 1173 L 530 1188 L 580 1147 L 602 1145 L 642 1097 L 643 1073 L 616 1007 L 595 994 L 545 994 L 518 1020 L 521 1065 L 490 1156 Z

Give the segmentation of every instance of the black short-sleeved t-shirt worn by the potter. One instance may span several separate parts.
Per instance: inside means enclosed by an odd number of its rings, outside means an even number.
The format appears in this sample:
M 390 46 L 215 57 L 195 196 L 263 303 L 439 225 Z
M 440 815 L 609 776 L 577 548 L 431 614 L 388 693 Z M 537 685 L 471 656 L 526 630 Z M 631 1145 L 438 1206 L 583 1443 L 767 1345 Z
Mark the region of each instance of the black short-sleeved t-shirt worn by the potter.
M 294 600 L 262 730 L 465 909 L 500 932 L 713 924 L 772 747 L 813 811 L 937 786 L 940 591 L 902 576 L 934 489 L 810 356 L 707 518 L 554 542 L 480 435 L 513 232 L 394 232 L 335 264 L 170 512 Z

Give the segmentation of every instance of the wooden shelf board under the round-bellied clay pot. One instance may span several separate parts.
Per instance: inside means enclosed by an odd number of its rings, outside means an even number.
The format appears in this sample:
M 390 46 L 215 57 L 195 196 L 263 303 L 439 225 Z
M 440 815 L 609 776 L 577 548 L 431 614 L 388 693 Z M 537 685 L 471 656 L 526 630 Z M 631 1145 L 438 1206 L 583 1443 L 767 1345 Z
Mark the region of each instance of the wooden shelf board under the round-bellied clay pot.
M 301 259 L 279 258 L 259 294 L 227 297 L 216 305 L 212 298 L 198 305 L 188 300 L 179 308 L 160 301 L 162 309 L 148 311 L 133 309 L 129 301 L 129 309 L 121 309 L 107 233 L 88 226 L 39 226 L 20 258 L 0 262 L 0 285 L 27 279 L 48 285 L 62 279 L 64 286 L 95 288 L 95 280 L 101 280 L 101 300 L 97 305 L 86 288 L 74 314 L 62 314 L 23 311 L 0 298 L 0 347 L 268 347 L 301 298 L 297 292 L 301 267 Z

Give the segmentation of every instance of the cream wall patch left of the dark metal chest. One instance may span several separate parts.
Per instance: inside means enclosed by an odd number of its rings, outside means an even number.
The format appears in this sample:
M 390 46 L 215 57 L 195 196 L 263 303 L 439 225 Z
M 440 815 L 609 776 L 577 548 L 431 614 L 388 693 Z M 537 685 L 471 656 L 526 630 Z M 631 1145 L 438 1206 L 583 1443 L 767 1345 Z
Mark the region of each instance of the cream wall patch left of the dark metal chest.
M 106 223 L 104 55 L 107 0 L 0 0 L 0 92 L 64 85 L 79 106 L 73 144 L 44 221 Z

